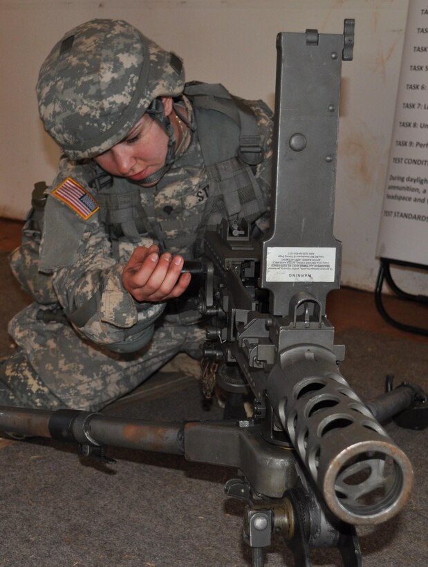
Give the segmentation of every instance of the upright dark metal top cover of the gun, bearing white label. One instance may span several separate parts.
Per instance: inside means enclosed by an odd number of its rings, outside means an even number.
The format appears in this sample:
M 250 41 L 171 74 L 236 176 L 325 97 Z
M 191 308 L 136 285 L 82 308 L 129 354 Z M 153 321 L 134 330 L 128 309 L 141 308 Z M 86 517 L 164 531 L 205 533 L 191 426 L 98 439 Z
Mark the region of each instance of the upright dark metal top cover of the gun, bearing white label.
M 337 127 L 344 35 L 277 37 L 271 233 L 263 243 L 261 287 L 270 313 L 286 316 L 297 292 L 325 313 L 339 287 L 342 245 L 333 236 Z

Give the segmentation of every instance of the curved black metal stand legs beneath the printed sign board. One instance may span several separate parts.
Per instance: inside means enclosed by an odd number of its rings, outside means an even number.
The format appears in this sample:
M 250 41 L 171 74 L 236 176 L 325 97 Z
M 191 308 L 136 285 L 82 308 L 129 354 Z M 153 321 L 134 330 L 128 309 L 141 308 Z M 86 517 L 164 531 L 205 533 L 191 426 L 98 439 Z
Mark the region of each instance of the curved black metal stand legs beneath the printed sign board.
M 380 259 L 380 268 L 378 273 L 378 281 L 376 282 L 376 289 L 375 289 L 375 303 L 376 308 L 380 315 L 385 319 L 387 323 L 390 325 L 401 329 L 402 331 L 407 331 L 408 333 L 417 333 L 418 335 L 425 335 L 428 336 L 428 328 L 417 327 L 412 325 L 407 325 L 404 323 L 400 323 L 396 319 L 393 319 L 387 310 L 384 307 L 382 302 L 382 287 L 384 281 L 387 282 L 389 288 L 393 292 L 396 297 L 400 299 L 406 299 L 407 301 L 416 301 L 420 304 L 428 304 L 428 296 L 427 295 L 413 295 L 411 293 L 403 291 L 399 288 L 395 281 L 393 281 L 393 277 L 391 275 L 390 266 L 404 266 L 404 268 L 411 268 L 413 270 L 425 270 L 428 272 L 428 266 L 424 264 L 406 262 L 401 260 L 391 260 L 389 258 L 381 258 Z

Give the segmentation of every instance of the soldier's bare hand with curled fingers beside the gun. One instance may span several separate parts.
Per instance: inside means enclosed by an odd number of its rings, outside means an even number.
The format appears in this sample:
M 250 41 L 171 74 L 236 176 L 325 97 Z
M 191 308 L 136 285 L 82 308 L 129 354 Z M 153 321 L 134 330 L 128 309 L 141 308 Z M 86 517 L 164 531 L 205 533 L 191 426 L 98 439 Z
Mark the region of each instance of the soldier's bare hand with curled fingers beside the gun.
M 165 301 L 180 296 L 189 286 L 192 276 L 183 268 L 183 257 L 169 252 L 159 254 L 159 248 L 139 246 L 122 272 L 124 288 L 137 301 Z

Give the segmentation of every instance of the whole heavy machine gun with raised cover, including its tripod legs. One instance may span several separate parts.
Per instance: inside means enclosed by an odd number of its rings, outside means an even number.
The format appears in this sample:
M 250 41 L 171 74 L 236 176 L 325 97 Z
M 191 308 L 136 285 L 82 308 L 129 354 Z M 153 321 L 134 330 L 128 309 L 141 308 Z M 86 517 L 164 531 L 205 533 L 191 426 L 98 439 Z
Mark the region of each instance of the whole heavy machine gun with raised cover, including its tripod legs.
M 205 236 L 201 311 L 212 317 L 203 346 L 218 383 L 250 391 L 252 418 L 153 423 L 63 409 L 0 408 L 0 430 L 52 437 L 104 458 L 106 445 L 236 467 L 229 496 L 245 499 L 243 537 L 252 564 L 283 535 L 297 567 L 310 548 L 339 548 L 362 565 L 355 525 L 401 510 L 413 472 L 379 423 L 415 401 L 411 387 L 362 402 L 338 369 L 326 296 L 339 287 L 341 244 L 333 236 L 342 59 L 352 59 L 353 20 L 344 33 L 277 37 L 275 160 L 270 236 L 223 221 Z M 377 419 L 378 418 L 378 419 Z

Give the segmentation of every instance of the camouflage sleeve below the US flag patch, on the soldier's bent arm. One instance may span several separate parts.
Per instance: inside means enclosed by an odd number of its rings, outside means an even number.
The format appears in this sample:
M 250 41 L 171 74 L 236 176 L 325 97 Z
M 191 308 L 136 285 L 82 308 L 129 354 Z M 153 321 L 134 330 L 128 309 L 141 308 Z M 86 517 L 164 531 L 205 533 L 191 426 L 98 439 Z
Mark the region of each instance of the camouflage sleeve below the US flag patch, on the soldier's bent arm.
M 64 164 L 62 169 L 46 203 L 39 270 L 50 274 L 57 301 L 78 333 L 112 351 L 137 351 L 151 339 L 165 304 L 138 304 L 124 290 L 124 263 L 113 257 L 96 194 L 87 187 L 88 172 L 77 167 L 68 171 Z M 76 210 L 80 205 L 72 207 L 55 196 L 64 177 L 88 191 L 84 203 L 93 208 L 89 218 L 82 216 L 84 209 Z

